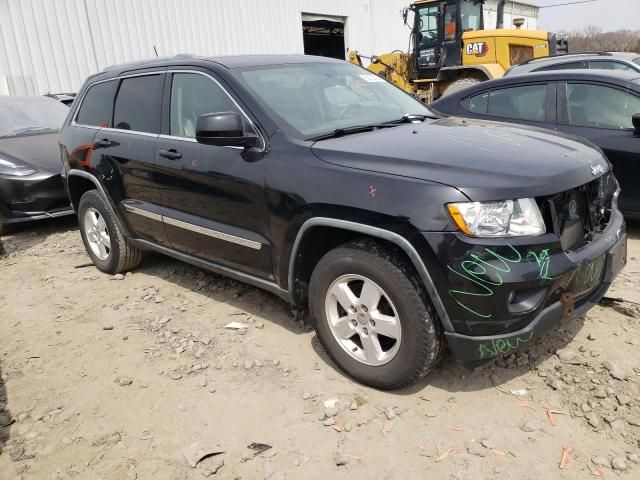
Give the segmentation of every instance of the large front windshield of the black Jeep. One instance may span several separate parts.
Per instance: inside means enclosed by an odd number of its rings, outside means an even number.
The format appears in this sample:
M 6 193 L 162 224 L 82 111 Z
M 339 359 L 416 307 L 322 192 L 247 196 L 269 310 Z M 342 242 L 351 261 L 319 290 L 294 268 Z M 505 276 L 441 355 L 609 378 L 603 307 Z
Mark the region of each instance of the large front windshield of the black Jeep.
M 243 69 L 244 83 L 301 137 L 433 115 L 419 100 L 349 63 L 309 63 Z

